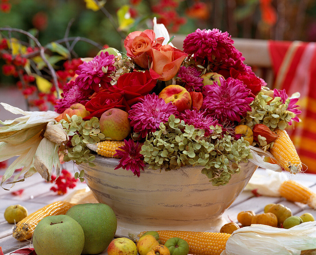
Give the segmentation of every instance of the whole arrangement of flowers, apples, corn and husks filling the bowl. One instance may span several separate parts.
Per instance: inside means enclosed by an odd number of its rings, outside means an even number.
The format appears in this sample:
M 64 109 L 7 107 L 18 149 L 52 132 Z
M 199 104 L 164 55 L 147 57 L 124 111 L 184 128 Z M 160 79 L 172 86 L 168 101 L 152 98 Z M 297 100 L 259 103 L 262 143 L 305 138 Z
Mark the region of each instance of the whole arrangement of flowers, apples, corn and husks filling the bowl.
M 17 167 L 23 169 L 9 183 L 36 172 L 49 181 L 53 166 L 59 174 L 61 156 L 93 166 L 95 152 L 119 158 L 116 168 L 137 177 L 145 164 L 157 171 L 204 166 L 213 185 L 227 184 L 241 162 L 264 165 L 257 152 L 300 172 L 284 131 L 299 121 L 298 98 L 267 88 L 233 44 L 227 32 L 197 29 L 186 36 L 182 51 L 155 24 L 154 30 L 130 33 L 126 53 L 107 48 L 82 59 L 55 112 L 3 104 L 24 116 L 1 122 L 0 161 L 20 155 L 1 184 Z

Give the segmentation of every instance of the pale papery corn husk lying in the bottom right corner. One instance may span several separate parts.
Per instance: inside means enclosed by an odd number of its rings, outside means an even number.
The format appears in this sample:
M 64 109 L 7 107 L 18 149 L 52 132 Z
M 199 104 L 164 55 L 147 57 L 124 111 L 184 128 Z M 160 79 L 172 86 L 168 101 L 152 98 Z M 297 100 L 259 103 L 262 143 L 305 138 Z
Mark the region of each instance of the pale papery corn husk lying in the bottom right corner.
M 234 231 L 221 255 L 316 254 L 315 249 L 316 221 L 289 229 L 252 224 Z

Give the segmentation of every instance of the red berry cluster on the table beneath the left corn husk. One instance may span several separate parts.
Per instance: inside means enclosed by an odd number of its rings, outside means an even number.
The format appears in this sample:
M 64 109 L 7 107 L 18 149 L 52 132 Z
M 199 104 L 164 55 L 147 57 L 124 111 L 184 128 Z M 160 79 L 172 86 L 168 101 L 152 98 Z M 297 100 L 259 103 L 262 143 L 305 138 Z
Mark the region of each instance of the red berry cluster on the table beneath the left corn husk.
M 75 179 L 66 169 L 63 169 L 57 179 L 56 176 L 52 175 L 51 182 L 53 183 L 54 181 L 56 186 L 52 186 L 51 190 L 57 192 L 58 195 L 64 195 L 67 193 L 67 188 L 73 189 L 76 187 L 78 179 Z

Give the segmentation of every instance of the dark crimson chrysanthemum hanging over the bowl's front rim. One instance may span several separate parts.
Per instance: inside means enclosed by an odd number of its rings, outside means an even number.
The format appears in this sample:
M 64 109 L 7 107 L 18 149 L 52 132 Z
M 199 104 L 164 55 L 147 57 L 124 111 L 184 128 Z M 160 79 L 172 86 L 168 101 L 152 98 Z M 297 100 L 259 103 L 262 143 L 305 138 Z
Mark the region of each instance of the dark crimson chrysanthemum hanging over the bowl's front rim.
M 144 171 L 144 157 L 140 154 L 142 145 L 137 142 L 135 143 L 131 138 L 130 140 L 124 140 L 124 145 L 119 148 L 122 150 L 116 150 L 115 155 L 121 157 L 119 164 L 114 168 L 114 170 L 122 167 L 126 171 L 131 170 L 137 177 L 140 176 L 140 169 Z

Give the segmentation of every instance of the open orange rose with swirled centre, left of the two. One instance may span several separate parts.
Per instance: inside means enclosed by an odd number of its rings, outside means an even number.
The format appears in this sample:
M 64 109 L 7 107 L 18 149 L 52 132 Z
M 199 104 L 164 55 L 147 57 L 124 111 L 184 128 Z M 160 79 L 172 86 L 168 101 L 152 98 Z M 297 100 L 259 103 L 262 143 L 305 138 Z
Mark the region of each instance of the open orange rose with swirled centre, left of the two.
M 157 43 L 161 44 L 164 40 L 163 37 L 155 40 L 155 36 L 154 30 L 147 29 L 144 32 L 129 33 L 124 40 L 127 56 L 142 68 L 148 68 L 148 60 L 151 61 L 151 48 Z

